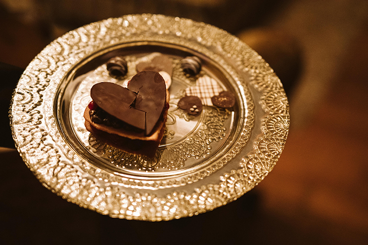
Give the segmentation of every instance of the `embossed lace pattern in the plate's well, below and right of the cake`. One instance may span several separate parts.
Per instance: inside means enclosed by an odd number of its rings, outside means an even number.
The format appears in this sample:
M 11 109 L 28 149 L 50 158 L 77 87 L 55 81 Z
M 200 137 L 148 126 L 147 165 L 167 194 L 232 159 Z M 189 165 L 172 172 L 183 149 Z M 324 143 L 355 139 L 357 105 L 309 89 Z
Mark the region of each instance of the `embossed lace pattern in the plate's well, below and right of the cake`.
M 153 159 L 144 156 L 125 153 L 105 143 L 97 141 L 93 135 L 89 136 L 89 144 L 101 155 L 107 154 L 111 163 L 118 167 L 131 167 L 134 165 L 138 170 L 153 171 L 159 167 L 178 169 L 184 165 L 187 158 L 205 158 L 210 154 L 210 144 L 219 141 L 224 136 L 225 128 L 223 121 L 227 119 L 229 111 L 209 108 L 203 125 L 189 139 L 167 149 L 159 149 L 157 156 Z

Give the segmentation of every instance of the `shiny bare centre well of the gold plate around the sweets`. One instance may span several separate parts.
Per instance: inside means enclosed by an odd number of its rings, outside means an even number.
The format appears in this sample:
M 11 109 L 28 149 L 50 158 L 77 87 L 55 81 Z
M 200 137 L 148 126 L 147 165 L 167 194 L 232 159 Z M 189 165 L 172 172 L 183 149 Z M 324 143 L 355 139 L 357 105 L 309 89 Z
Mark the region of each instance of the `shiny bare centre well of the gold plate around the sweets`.
M 102 63 L 68 83 L 62 101 L 70 101 L 65 103 L 70 104 L 70 107 L 66 108 L 69 118 L 61 119 L 64 121 L 65 131 L 73 132 L 73 134 L 67 134 L 67 137 L 72 138 L 69 142 L 82 157 L 87 156 L 89 162 L 117 174 L 148 177 L 173 176 L 189 173 L 211 164 L 230 144 L 229 137 L 234 136 L 232 129 L 236 128 L 239 106 L 224 109 L 214 105 L 204 105 L 198 116 L 189 115 L 180 109 L 178 102 L 185 96 L 185 91 L 197 86 L 201 79 L 210 79 L 222 90 L 233 88 L 229 88 L 231 86 L 229 78 L 216 70 L 213 62 L 205 58 L 203 58 L 200 74 L 196 76 L 185 74 L 180 62 L 188 54 L 179 56 L 176 49 L 163 50 L 173 62 L 173 75 L 168 89 L 170 108 L 164 138 L 154 158 L 150 159 L 116 149 L 98 141 L 86 130 L 83 113 L 92 100 L 91 87 L 98 82 L 114 82 L 126 86 L 136 74 L 137 62 L 149 54 L 138 52 L 139 50 L 129 50 L 130 52 L 124 53 L 128 63 L 128 73 L 121 80 L 110 77 L 105 63 Z

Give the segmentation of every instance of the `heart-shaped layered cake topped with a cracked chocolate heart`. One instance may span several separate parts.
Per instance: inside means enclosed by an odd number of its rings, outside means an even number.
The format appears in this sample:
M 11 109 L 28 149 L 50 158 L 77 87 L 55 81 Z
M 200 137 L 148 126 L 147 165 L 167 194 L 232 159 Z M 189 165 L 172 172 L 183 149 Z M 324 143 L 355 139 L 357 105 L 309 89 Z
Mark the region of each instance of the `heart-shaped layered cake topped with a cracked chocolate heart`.
M 96 139 L 125 152 L 155 156 L 169 109 L 169 94 L 159 73 L 139 72 L 127 87 L 97 83 L 91 97 L 84 118 Z

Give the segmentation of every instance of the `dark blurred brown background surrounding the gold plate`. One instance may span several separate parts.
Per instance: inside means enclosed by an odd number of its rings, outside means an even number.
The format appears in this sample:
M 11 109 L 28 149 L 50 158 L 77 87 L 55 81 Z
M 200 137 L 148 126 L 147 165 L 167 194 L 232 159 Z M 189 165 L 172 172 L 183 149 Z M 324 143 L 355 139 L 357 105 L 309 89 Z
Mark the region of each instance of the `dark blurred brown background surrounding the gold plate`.
M 169 222 L 113 219 L 42 186 L 12 150 L 7 108 L 49 42 L 129 13 L 187 17 L 239 36 L 290 103 L 274 170 L 214 211 Z M 0 244 L 368 244 L 366 0 L 0 0 Z

